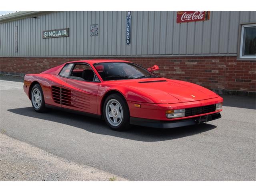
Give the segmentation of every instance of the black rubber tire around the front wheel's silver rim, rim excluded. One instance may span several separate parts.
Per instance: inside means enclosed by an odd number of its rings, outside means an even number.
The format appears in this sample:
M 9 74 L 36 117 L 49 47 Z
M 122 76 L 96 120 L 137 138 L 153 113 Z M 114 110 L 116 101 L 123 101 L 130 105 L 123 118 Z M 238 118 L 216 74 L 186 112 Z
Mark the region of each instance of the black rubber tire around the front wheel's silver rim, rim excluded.
M 109 122 L 108 119 L 106 117 L 106 105 L 108 103 L 109 100 L 111 99 L 116 99 L 118 100 L 118 102 L 121 104 L 122 109 L 123 109 L 123 119 L 121 124 L 119 124 L 118 126 L 112 126 Z M 103 116 L 104 116 L 104 120 L 106 121 L 106 123 L 108 124 L 108 126 L 110 126 L 113 130 L 116 131 L 124 131 L 130 128 L 130 111 L 129 111 L 129 107 L 126 103 L 126 100 L 124 100 L 123 96 L 121 96 L 120 94 L 111 94 L 110 96 L 108 96 L 104 102 L 104 107 L 103 107 Z

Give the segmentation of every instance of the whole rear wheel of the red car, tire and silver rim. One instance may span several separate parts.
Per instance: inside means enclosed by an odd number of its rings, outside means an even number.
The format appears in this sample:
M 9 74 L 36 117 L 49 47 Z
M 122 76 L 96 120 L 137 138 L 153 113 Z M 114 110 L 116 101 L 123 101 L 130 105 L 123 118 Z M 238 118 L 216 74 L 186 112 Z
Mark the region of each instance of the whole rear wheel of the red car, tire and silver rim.
M 44 102 L 44 93 L 40 84 L 35 84 L 32 87 L 30 93 L 31 103 L 36 112 L 43 113 L 46 111 L 46 106 Z

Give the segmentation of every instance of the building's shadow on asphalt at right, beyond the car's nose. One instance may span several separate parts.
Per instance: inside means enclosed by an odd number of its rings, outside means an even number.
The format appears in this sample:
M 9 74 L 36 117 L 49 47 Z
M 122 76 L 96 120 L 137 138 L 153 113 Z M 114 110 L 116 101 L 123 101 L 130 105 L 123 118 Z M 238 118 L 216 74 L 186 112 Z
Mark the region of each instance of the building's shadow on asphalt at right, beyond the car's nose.
M 246 109 L 256 109 L 256 99 L 248 96 L 220 95 L 223 98 L 223 105 Z

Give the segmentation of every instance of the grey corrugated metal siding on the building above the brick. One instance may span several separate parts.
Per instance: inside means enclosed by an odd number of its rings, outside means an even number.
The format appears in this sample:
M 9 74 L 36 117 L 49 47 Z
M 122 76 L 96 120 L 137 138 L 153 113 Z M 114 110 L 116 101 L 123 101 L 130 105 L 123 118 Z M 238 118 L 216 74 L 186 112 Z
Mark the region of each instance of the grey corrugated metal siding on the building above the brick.
M 255 11 L 211 12 L 208 21 L 181 24 L 176 23 L 175 11 L 131 14 L 130 45 L 126 45 L 126 11 L 61 11 L 1 23 L 0 56 L 236 54 L 239 25 L 256 22 Z M 98 24 L 98 36 L 90 36 L 91 24 Z M 42 31 L 59 28 L 70 28 L 70 36 L 42 38 Z

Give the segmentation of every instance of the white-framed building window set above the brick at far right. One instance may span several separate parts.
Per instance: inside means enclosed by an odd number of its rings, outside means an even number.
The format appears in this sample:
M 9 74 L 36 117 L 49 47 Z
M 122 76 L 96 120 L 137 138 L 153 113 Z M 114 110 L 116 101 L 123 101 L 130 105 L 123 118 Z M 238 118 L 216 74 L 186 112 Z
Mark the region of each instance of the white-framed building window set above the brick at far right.
M 256 24 L 243 25 L 240 58 L 256 58 Z

